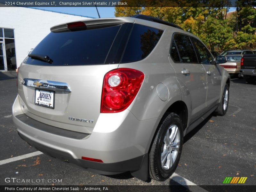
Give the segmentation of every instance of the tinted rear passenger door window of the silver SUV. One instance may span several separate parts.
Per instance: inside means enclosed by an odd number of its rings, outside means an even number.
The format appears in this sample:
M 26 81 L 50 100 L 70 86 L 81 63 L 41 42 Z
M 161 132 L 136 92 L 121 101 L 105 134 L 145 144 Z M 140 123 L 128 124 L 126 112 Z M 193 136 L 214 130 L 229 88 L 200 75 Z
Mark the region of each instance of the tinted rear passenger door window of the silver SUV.
M 175 34 L 173 39 L 180 53 L 181 62 L 198 62 L 196 52 L 188 36 Z

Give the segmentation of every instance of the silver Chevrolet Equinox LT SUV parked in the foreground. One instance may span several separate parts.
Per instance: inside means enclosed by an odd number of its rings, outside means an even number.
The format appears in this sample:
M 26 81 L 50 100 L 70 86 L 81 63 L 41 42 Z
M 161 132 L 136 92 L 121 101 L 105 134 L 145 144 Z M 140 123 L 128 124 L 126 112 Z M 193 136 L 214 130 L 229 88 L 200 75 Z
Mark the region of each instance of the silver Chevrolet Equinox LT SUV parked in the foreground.
M 50 156 L 163 181 L 183 137 L 228 108 L 230 76 L 196 36 L 145 15 L 54 26 L 21 63 L 20 137 Z

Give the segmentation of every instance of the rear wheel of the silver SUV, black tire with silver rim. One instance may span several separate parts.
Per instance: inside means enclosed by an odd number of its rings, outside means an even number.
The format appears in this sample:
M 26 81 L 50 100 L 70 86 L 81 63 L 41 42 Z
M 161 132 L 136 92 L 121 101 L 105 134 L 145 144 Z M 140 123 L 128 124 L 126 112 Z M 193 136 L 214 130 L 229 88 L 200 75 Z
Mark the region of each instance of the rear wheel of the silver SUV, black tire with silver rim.
M 166 137 L 168 133 L 169 139 Z M 152 179 L 164 181 L 170 178 L 180 161 L 182 145 L 183 125 L 181 118 L 176 113 L 170 113 L 160 123 L 149 152 L 149 175 Z

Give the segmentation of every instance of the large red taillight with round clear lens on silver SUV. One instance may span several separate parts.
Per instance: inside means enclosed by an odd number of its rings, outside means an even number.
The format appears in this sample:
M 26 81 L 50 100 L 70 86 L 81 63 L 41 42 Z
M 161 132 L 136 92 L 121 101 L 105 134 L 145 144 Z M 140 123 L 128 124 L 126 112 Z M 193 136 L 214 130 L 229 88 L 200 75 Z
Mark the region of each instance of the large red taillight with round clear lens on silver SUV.
M 103 80 L 100 113 L 117 113 L 129 107 L 143 80 L 144 74 L 135 69 L 109 71 Z

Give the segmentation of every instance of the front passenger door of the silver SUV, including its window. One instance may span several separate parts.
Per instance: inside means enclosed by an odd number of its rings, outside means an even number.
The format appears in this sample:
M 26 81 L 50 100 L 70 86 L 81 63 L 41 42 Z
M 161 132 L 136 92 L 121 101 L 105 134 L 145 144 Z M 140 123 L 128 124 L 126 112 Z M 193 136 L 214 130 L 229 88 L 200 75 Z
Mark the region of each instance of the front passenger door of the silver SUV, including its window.
M 221 73 L 214 63 L 212 54 L 198 39 L 191 37 L 196 48 L 199 62 L 204 66 L 207 74 L 207 99 L 206 106 L 211 108 L 219 102 L 221 96 Z

